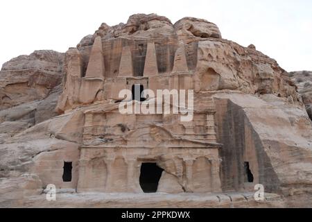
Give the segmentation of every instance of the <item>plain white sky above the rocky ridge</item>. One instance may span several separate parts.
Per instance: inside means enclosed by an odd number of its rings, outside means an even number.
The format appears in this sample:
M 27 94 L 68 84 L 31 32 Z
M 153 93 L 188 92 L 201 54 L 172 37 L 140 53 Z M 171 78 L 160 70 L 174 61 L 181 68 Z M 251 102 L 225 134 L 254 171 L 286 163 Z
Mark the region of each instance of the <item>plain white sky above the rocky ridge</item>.
M 112 26 L 152 12 L 173 23 L 207 19 L 223 38 L 254 44 L 287 71 L 312 70 L 311 0 L 1 0 L 0 66 L 37 49 L 65 52 L 102 22 Z

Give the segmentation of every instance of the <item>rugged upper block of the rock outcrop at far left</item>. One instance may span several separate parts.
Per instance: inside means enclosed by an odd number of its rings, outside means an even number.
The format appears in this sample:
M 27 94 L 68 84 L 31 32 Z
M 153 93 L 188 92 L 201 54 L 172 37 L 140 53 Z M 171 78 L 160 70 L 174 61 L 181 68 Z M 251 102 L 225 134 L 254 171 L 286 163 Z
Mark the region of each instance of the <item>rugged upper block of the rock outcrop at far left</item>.
M 64 55 L 35 51 L 3 64 L 0 71 L 0 110 L 46 98 L 62 81 Z

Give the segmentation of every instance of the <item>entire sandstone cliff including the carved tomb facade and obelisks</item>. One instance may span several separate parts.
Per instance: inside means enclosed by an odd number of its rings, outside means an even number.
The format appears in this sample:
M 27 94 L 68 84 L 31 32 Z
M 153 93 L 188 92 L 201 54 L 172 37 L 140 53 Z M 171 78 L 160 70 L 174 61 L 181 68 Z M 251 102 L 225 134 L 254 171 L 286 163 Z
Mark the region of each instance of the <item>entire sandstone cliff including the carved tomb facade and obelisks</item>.
M 62 194 L 60 207 L 83 200 L 107 206 L 84 196 L 89 191 L 114 193 L 110 206 L 128 205 L 118 193 L 133 198 L 153 191 L 157 206 L 168 206 L 165 192 L 170 203 L 187 197 L 189 205 L 181 207 L 261 207 L 250 194 L 257 184 L 271 193 L 266 206 L 311 202 L 309 93 L 300 96 L 275 60 L 254 45 L 224 40 L 204 19 L 172 24 L 137 14 L 126 24 L 103 23 L 64 54 L 36 51 L 7 62 L 0 80 L 0 188 L 20 191 L 8 184 L 28 173 L 25 186 L 34 191 L 23 201 L 0 193 L 0 206 L 45 205 L 45 194 L 36 192 L 48 184 L 74 193 Z M 136 85 L 154 92 L 193 89 L 193 118 L 122 114 L 119 92 Z M 14 102 L 7 98 L 17 94 Z M 144 204 L 150 200 L 136 206 Z

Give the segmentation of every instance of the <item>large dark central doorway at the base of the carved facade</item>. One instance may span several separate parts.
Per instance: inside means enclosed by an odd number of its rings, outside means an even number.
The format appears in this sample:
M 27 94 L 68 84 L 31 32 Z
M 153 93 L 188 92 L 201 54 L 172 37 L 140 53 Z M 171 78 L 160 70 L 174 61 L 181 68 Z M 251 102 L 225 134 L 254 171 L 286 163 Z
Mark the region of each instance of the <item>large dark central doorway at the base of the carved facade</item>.
M 144 193 L 155 193 L 157 191 L 158 182 L 162 176 L 162 168 L 156 163 L 142 163 L 140 185 Z

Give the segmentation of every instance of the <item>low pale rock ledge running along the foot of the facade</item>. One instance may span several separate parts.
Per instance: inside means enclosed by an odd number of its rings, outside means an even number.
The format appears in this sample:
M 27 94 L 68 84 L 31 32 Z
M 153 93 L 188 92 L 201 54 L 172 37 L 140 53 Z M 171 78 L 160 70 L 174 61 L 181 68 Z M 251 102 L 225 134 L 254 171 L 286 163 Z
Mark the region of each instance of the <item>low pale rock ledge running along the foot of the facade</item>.
M 273 207 L 292 206 L 284 203 L 284 198 L 276 194 L 266 194 L 266 200 L 255 201 L 252 193 L 224 194 L 57 194 L 56 201 L 46 201 L 46 194 L 30 196 L 19 202 L 24 207 L 150 207 L 150 208 L 221 208 L 221 207 Z M 75 203 L 75 206 L 73 206 Z M 9 205 L 10 204 L 10 205 Z M 14 203 L 1 203 L 1 206 L 14 206 Z M 15 204 L 16 205 L 16 204 Z

